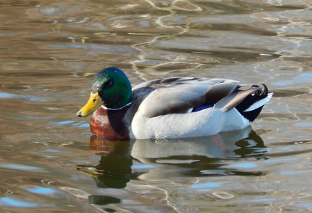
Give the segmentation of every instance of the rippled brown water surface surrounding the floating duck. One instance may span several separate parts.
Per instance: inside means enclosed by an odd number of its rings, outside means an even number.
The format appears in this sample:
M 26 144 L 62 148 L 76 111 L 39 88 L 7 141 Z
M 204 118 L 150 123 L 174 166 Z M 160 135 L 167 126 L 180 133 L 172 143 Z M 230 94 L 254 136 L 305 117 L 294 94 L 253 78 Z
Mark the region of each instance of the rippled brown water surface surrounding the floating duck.
M 1 212 L 312 211 L 311 1 L 2 1 Z M 252 128 L 91 136 L 96 72 L 225 77 L 274 92 Z

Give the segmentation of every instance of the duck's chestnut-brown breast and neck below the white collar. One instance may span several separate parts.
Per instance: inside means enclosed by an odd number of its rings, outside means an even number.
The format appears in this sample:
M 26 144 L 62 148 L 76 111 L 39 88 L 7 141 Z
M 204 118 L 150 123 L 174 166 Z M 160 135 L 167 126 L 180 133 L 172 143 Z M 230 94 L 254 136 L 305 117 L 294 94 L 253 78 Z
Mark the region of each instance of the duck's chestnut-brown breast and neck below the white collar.
M 91 133 L 104 138 L 129 139 L 129 129 L 123 118 L 130 108 L 130 104 L 119 109 L 106 107 L 96 109 L 90 120 Z

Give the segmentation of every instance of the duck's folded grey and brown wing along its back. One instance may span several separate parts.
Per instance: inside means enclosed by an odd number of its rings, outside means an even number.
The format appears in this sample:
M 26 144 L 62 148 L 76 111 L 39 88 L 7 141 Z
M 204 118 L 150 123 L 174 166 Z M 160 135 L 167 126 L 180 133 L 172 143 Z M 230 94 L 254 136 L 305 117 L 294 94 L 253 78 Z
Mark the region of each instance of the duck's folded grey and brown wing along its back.
M 145 117 L 182 114 L 216 104 L 238 87 L 234 80 L 169 77 L 138 84 L 133 88 L 133 102 Z

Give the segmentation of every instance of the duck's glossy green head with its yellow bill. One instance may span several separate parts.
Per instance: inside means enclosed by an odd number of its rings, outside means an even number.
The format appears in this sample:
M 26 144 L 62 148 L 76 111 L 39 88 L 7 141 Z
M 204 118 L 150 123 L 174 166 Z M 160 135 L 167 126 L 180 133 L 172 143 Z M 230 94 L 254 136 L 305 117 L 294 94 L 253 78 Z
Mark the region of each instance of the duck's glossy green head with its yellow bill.
M 131 102 L 131 84 L 128 77 L 116 67 L 106 67 L 95 77 L 87 104 L 77 112 L 77 116 L 88 116 L 101 105 L 119 109 Z

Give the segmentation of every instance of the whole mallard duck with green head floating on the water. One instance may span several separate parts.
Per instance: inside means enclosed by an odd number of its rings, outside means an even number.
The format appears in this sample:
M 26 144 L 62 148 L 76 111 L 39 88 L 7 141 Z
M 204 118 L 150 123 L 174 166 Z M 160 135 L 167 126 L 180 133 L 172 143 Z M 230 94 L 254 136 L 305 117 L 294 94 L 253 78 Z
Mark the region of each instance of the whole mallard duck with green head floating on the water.
M 167 77 L 131 89 L 121 70 L 106 67 L 77 116 L 91 114 L 91 133 L 104 138 L 201 137 L 244 129 L 271 97 L 264 84 L 243 89 L 218 78 Z

